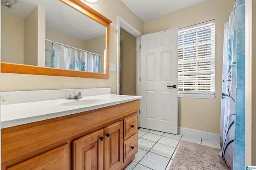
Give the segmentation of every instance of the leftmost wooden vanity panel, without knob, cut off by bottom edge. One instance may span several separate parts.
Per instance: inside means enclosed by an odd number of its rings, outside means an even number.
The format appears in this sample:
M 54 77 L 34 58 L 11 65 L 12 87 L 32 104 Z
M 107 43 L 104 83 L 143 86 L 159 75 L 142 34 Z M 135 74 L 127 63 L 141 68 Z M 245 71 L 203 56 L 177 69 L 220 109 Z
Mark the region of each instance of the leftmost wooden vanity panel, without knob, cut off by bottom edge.
M 68 144 L 6 168 L 7 170 L 68 170 Z

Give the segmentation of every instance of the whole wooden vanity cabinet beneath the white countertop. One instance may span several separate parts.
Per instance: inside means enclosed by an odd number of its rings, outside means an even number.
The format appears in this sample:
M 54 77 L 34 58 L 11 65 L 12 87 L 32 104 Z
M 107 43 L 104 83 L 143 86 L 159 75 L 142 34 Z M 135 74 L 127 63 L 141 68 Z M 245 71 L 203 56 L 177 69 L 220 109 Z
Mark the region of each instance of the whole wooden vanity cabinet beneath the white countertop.
M 134 100 L 1 129 L 1 169 L 124 169 L 137 152 L 139 108 Z

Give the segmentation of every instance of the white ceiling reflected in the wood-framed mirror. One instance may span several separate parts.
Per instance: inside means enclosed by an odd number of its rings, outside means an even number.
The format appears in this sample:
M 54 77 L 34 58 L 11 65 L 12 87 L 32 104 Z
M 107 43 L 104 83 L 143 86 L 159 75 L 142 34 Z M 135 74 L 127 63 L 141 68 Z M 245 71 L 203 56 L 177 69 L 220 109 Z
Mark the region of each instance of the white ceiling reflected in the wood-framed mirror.
M 25 19 L 37 6 L 45 9 L 47 28 L 83 40 L 100 37 L 106 33 L 103 25 L 59 0 L 20 0 L 11 10 L 1 6 L 1 11 Z

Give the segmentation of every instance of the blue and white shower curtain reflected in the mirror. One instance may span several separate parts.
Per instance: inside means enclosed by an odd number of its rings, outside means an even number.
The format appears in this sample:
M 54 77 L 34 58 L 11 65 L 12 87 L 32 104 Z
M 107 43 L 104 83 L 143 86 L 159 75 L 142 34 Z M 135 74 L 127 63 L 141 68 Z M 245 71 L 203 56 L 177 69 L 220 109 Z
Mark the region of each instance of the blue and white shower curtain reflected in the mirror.
M 100 56 L 52 43 L 51 67 L 100 72 Z

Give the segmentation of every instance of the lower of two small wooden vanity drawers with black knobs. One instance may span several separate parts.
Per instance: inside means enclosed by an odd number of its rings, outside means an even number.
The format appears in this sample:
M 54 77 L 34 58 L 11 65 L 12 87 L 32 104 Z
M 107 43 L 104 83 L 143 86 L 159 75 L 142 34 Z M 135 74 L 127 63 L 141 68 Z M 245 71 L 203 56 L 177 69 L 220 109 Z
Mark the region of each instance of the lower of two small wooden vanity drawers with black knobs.
M 124 141 L 124 162 L 138 152 L 138 133 Z

